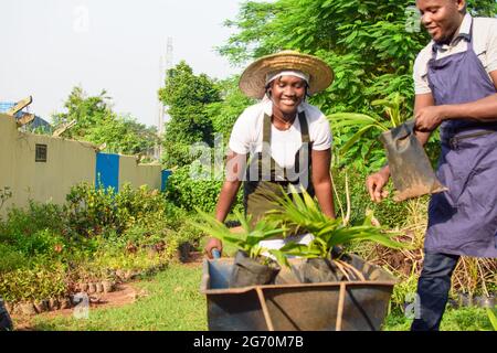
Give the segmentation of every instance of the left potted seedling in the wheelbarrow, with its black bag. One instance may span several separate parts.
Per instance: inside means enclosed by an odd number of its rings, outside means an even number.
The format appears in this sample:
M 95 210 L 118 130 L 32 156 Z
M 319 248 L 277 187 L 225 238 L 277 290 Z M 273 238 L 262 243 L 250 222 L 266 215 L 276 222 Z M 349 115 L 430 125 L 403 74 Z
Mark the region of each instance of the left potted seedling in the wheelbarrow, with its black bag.
M 237 248 L 229 282 L 230 288 L 274 282 L 281 267 L 271 255 L 276 258 L 282 258 L 283 256 L 278 250 L 265 249 L 260 243 L 282 236 L 285 233 L 285 227 L 278 226 L 278 222 L 267 220 L 261 220 L 252 225 L 250 215 L 245 217 L 241 213 L 235 212 L 242 231 L 233 234 L 223 223 L 200 210 L 197 211 L 203 223 L 191 222 L 193 226 Z

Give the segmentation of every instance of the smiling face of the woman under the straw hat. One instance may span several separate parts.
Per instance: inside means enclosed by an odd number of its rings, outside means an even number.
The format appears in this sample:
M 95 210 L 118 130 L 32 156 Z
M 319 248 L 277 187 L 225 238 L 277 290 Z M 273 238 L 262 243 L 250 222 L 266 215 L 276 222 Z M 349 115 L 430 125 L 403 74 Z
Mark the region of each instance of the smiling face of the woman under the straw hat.
M 307 83 L 295 76 L 281 76 L 272 82 L 269 90 L 274 106 L 283 114 L 295 114 L 306 96 Z

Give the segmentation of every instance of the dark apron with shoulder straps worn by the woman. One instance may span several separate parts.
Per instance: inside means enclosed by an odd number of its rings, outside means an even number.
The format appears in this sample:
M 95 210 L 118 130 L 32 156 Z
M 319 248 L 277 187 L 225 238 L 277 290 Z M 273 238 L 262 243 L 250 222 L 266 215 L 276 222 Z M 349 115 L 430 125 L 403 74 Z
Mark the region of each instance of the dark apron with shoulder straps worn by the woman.
M 311 142 L 305 113 L 298 114 L 300 122 L 302 147 L 295 154 L 295 170 L 282 168 L 271 157 L 271 117 L 264 115 L 263 149 L 254 153 L 248 161 L 246 181 L 244 183 L 245 214 L 252 215 L 255 223 L 267 211 L 277 210 L 277 197 L 289 193 L 289 185 L 304 188 L 314 196 L 311 170 Z

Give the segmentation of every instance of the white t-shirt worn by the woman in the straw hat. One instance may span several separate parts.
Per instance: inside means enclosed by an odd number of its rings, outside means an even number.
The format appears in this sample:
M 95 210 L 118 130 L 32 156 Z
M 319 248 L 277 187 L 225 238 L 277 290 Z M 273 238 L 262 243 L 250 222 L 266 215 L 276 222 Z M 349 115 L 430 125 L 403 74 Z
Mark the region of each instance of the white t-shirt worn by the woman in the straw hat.
M 309 139 L 313 150 L 322 151 L 331 148 L 331 129 L 326 116 L 315 106 L 302 103 L 298 111 L 305 111 Z M 264 114 L 273 114 L 273 103 L 264 99 L 246 108 L 236 120 L 231 131 L 230 149 L 239 154 L 256 153 L 263 147 Z M 300 122 L 298 118 L 293 126 L 282 131 L 271 125 L 271 157 L 284 168 L 293 168 L 295 154 L 302 147 Z

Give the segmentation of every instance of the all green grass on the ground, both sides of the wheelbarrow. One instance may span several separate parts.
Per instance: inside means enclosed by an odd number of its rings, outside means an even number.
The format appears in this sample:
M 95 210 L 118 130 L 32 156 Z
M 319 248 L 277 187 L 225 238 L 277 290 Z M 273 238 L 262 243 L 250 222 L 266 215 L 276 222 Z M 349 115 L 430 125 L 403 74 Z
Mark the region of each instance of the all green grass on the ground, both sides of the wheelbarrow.
M 155 277 L 138 282 L 148 296 L 120 308 L 89 312 L 87 320 L 36 317 L 33 329 L 42 331 L 204 331 L 205 298 L 200 293 L 201 266 L 172 264 Z M 412 320 L 391 313 L 384 331 L 408 331 Z M 447 309 L 442 331 L 491 330 L 485 309 Z

